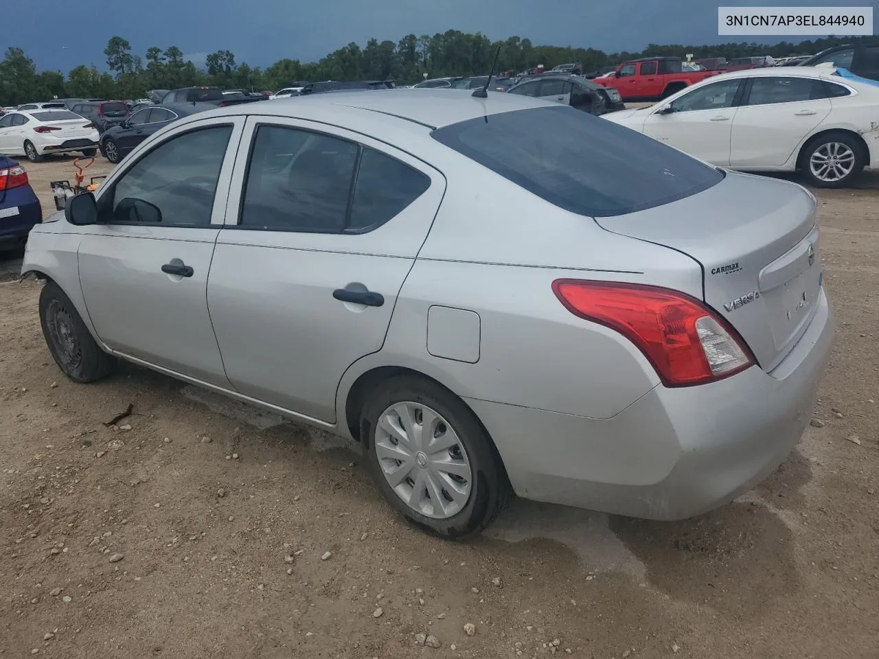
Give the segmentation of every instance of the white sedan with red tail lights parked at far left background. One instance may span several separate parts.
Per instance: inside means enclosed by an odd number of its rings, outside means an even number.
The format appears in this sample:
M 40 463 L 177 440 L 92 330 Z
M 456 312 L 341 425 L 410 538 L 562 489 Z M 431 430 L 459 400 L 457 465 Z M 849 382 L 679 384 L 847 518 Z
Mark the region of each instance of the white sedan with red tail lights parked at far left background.
M 24 110 L 0 118 L 0 154 L 39 163 L 47 154 L 70 151 L 91 157 L 97 148 L 98 129 L 69 110 Z

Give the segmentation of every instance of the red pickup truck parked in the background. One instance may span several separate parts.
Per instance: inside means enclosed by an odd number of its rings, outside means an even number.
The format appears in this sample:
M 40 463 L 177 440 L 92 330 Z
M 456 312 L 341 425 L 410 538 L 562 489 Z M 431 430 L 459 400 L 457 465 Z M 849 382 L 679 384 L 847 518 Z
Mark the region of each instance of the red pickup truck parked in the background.
M 679 57 L 645 57 L 622 62 L 609 76 L 592 79 L 616 87 L 624 101 L 656 101 L 722 71 L 684 71 Z

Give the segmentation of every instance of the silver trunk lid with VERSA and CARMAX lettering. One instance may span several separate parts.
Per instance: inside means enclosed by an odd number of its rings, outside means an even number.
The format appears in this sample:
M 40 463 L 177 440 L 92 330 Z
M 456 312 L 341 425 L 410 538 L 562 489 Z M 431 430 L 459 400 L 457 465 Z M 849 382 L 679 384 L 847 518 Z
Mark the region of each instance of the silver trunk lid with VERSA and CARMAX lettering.
M 770 371 L 817 308 L 815 201 L 802 187 L 728 172 L 708 190 L 646 211 L 596 218 L 616 234 L 665 245 L 702 266 L 704 300 Z

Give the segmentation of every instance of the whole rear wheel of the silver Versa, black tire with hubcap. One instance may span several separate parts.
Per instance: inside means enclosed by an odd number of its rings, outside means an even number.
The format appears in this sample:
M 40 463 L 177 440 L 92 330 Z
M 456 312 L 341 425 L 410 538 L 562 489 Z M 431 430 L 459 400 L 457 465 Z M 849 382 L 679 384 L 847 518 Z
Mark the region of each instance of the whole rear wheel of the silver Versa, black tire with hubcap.
M 403 414 L 392 410 L 395 407 L 403 412 L 414 411 L 409 423 L 403 422 Z M 420 416 L 418 409 L 421 410 Z M 429 447 L 418 445 L 417 432 L 411 433 L 411 444 L 409 440 L 400 439 L 399 431 L 407 425 L 412 427 L 414 422 L 415 427 L 423 427 L 425 414 L 436 414 L 439 422 L 433 435 L 436 439 L 432 441 L 440 442 L 441 447 L 433 452 Z M 395 421 L 389 425 L 386 416 Z M 392 426 L 397 429 L 393 434 L 388 431 Z M 432 380 L 398 375 L 382 382 L 364 405 L 360 437 L 365 441 L 367 463 L 381 493 L 403 518 L 433 535 L 459 540 L 480 532 L 498 518 L 512 499 L 512 488 L 503 463 L 479 419 L 460 398 Z M 447 448 L 443 440 L 456 443 Z M 425 451 L 417 451 L 418 448 L 425 448 Z M 411 461 L 389 458 L 389 455 L 403 454 L 407 454 Z M 399 463 L 396 468 L 395 462 Z M 461 474 L 466 474 L 465 467 L 469 467 L 469 479 L 466 480 L 461 478 Z M 453 471 L 445 472 L 445 476 L 439 474 L 445 468 Z M 386 475 L 388 471 L 393 474 Z M 401 480 L 403 472 L 412 475 Z M 399 481 L 397 489 L 389 480 L 395 476 Z M 426 498 L 418 496 L 420 503 L 410 505 L 403 501 L 403 496 L 407 492 L 416 492 L 416 482 L 424 485 L 422 491 Z M 433 496 L 427 494 L 431 484 Z M 458 496 L 448 494 L 452 488 Z M 461 495 L 461 490 L 465 489 L 466 498 Z

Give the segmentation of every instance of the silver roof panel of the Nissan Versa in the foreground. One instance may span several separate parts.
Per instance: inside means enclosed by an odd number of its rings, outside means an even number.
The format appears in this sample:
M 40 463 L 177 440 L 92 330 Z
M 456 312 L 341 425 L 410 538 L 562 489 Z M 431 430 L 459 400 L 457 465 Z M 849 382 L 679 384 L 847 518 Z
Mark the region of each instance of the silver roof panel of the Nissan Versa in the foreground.
M 474 98 L 472 90 L 422 88 L 339 91 L 335 94 L 280 98 L 272 103 L 233 105 L 205 112 L 200 114 L 200 117 L 263 114 L 330 122 L 331 113 L 355 109 L 396 117 L 425 127 L 439 128 L 490 114 L 513 112 L 542 105 L 553 104 L 495 91 L 490 91 L 488 98 Z

